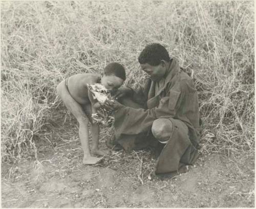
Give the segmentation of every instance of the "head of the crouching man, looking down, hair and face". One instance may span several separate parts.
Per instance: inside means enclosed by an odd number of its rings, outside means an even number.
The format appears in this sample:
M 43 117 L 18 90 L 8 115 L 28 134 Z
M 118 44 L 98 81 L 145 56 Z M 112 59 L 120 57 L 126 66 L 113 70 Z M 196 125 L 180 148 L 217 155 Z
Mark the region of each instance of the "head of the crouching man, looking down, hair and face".
M 159 81 L 166 73 L 170 57 L 161 44 L 152 43 L 142 50 L 138 60 L 141 69 L 150 76 L 150 79 Z

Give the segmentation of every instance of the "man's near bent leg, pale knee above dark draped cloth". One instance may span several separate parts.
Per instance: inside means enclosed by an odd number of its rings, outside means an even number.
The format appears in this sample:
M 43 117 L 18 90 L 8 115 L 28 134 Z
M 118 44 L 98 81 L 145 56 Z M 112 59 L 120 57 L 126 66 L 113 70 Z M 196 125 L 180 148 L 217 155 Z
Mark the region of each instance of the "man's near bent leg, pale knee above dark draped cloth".
M 193 147 L 188 135 L 188 127 L 180 120 L 157 119 L 152 133 L 165 146 L 157 160 L 156 174 L 180 172 L 184 165 L 193 163 L 197 149 Z

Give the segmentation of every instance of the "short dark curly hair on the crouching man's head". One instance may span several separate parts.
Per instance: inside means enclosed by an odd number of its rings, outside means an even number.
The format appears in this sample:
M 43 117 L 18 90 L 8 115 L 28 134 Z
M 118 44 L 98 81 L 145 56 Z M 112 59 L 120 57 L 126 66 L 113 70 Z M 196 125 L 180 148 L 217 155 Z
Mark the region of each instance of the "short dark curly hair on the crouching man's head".
M 151 43 L 142 50 L 138 60 L 140 64 L 148 63 L 156 66 L 160 64 L 161 60 L 168 62 L 170 57 L 163 45 L 160 43 Z

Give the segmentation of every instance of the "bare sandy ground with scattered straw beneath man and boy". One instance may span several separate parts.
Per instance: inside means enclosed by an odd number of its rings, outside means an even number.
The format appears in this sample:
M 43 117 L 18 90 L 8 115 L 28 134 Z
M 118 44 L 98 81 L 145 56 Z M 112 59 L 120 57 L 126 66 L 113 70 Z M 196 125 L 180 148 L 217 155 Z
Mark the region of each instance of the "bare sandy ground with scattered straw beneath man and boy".
M 254 207 L 254 156 L 245 153 L 200 154 L 187 173 L 160 180 L 149 150 L 112 151 L 95 166 L 82 165 L 76 137 L 38 151 L 38 161 L 2 164 L 2 207 Z

